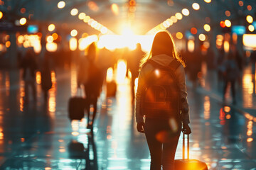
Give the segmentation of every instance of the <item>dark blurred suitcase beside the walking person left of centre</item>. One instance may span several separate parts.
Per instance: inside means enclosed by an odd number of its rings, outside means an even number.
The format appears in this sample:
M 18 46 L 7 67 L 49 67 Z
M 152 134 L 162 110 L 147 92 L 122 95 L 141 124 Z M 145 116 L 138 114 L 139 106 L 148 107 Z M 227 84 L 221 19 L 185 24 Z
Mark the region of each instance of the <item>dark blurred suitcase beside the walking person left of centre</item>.
M 85 116 L 86 99 L 83 97 L 72 97 L 68 101 L 68 118 L 71 120 L 81 120 Z

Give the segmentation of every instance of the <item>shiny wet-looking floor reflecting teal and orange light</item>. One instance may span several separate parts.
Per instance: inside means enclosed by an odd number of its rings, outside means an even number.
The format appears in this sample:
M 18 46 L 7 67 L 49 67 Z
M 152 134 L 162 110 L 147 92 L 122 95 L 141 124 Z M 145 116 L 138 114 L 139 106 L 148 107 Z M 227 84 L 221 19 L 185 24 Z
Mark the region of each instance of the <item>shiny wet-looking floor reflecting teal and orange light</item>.
M 256 169 L 256 94 L 250 65 L 223 103 L 215 71 L 203 69 L 200 86 L 187 79 L 191 129 L 190 157 L 209 169 Z M 38 76 L 39 77 L 39 76 Z M 37 100 L 24 103 L 18 70 L 0 71 L 0 169 L 149 169 L 149 149 L 136 130 L 129 79 L 118 81 L 117 96 L 103 87 L 92 131 L 68 119 L 68 99 L 75 96 L 76 72 L 56 69 L 48 102 L 37 85 Z M 32 96 L 31 96 L 32 97 Z M 179 140 L 176 159 L 182 157 Z

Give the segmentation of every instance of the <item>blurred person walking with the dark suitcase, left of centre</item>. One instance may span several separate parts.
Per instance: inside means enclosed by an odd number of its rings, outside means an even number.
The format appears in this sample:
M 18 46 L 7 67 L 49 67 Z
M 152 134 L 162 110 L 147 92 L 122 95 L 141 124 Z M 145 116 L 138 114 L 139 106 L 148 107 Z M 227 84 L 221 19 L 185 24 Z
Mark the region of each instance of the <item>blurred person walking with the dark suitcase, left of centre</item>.
M 103 83 L 103 75 L 104 73 L 97 66 L 96 60 L 96 47 L 95 42 L 92 42 L 88 47 L 87 52 L 87 70 L 85 74 L 85 96 L 87 99 L 87 103 L 85 109 L 87 111 L 87 128 L 92 128 L 92 125 L 95 121 L 95 116 L 97 113 L 97 98 L 100 96 L 100 92 L 102 90 Z M 90 105 L 93 106 L 92 120 L 90 119 Z

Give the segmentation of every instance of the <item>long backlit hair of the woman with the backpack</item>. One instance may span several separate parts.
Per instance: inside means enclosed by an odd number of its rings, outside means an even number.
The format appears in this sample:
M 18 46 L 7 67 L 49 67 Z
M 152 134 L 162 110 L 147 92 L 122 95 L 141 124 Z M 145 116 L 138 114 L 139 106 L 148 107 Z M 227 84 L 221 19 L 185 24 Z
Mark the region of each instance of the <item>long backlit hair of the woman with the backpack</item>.
M 170 57 L 174 57 L 176 60 L 178 60 L 178 62 L 181 62 L 183 67 L 186 67 L 183 60 L 181 60 L 181 58 L 178 56 L 178 52 L 176 51 L 174 44 L 174 39 L 167 30 L 156 33 L 151 50 L 142 58 L 139 64 L 139 68 L 142 69 L 144 64 L 155 55 L 169 55 Z

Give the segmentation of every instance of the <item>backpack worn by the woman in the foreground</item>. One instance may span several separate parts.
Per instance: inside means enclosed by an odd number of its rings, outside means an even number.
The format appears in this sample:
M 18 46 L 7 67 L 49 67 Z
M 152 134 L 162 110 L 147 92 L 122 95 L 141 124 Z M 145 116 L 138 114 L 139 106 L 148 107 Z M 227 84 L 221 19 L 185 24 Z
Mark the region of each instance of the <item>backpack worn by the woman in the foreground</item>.
M 180 62 L 173 60 L 162 66 L 148 60 L 154 69 L 146 75 L 146 88 L 142 93 L 142 113 L 147 118 L 179 118 L 180 89 L 175 70 Z

